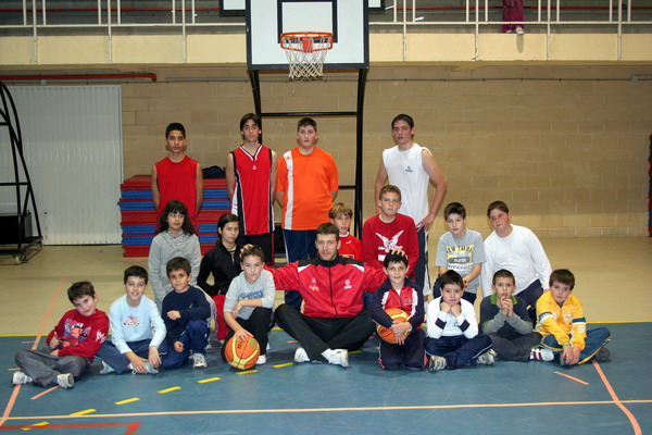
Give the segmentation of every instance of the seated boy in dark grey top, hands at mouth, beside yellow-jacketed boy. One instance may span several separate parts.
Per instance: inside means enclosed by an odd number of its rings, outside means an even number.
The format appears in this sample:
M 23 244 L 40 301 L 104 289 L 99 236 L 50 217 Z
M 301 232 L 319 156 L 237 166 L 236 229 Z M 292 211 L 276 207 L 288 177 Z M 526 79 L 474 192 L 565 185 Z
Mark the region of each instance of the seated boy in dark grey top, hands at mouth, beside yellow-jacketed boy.
M 496 272 L 491 287 L 493 295 L 480 303 L 480 327 L 491 338 L 491 348 L 498 358 L 551 361 L 551 351 L 532 349 L 539 346 L 541 335 L 532 332 L 525 301 L 513 296 L 516 278 L 512 272 L 504 269 Z

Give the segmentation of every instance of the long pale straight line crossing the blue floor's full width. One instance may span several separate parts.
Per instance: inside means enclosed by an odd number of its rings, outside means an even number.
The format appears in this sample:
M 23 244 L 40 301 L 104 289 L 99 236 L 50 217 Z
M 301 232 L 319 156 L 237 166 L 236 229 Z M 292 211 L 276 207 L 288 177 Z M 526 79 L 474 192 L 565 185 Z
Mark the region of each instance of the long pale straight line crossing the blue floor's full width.
M 620 400 L 620 403 L 652 403 L 652 399 Z M 114 414 L 88 414 L 78 418 L 125 418 L 125 417 L 159 417 L 159 415 L 214 415 L 214 414 L 275 414 L 275 413 L 315 413 L 315 412 L 368 412 L 368 411 L 405 411 L 434 409 L 467 409 L 467 408 L 529 408 L 529 407 L 568 407 L 578 405 L 615 405 L 614 400 L 580 400 L 580 401 L 548 401 L 523 403 L 468 403 L 468 405 L 415 405 L 406 407 L 359 407 L 359 408 L 306 408 L 306 409 L 217 409 L 203 411 L 156 411 L 156 412 L 125 412 Z M 70 419 L 71 415 L 25 415 L 9 417 L 7 420 L 45 420 Z

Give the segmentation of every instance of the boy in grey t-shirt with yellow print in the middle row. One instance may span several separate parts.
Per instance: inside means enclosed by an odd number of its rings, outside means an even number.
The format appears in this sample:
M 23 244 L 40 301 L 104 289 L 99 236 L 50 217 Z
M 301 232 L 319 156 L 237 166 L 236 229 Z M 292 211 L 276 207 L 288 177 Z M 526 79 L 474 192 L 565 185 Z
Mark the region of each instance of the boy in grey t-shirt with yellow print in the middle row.
M 476 231 L 466 228 L 466 209 L 460 202 L 451 202 L 443 208 L 443 220 L 449 232 L 439 237 L 435 265 L 439 268 L 439 275 L 449 269 L 462 275 L 464 283 L 462 297 L 474 304 L 485 262 L 482 236 Z M 432 287 L 432 297 L 439 296 L 441 296 L 441 281 L 437 278 Z

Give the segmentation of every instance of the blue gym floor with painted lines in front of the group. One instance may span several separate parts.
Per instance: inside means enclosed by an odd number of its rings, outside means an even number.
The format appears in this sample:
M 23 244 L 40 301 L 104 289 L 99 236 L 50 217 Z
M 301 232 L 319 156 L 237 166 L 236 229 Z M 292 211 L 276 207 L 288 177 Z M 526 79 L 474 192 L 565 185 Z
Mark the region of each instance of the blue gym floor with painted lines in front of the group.
M 271 334 L 267 364 L 238 372 L 209 349 L 209 368 L 158 375 L 90 373 L 72 389 L 13 387 L 13 356 L 35 337 L 0 337 L 0 430 L 45 434 L 631 434 L 652 431 L 652 323 L 606 326 L 611 360 L 574 368 L 499 361 L 455 371 L 383 371 L 378 341 L 351 366 L 294 364 L 297 344 Z M 43 340 L 40 340 L 43 345 Z M 215 343 L 213 343 L 215 345 Z

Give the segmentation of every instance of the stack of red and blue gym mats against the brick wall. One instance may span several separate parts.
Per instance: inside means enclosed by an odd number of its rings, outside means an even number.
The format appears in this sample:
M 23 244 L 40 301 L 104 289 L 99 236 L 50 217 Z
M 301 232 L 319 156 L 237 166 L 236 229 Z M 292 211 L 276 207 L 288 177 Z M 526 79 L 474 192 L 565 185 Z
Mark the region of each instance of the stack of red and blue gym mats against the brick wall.
M 148 257 L 156 231 L 152 178 L 149 175 L 135 175 L 125 179 L 120 188 L 124 257 Z M 199 243 L 202 256 L 215 245 L 217 220 L 230 211 L 224 178 L 204 178 L 203 196 L 199 212 Z

